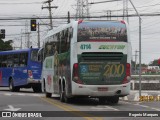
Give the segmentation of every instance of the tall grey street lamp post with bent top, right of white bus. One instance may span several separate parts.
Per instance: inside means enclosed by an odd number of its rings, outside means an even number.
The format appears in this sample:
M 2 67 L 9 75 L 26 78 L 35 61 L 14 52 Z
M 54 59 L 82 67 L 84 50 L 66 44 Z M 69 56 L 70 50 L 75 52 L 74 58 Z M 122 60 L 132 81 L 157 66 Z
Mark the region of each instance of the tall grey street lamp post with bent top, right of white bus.
M 141 79 L 142 79 L 142 77 L 141 77 L 141 70 L 142 70 L 141 69 L 142 68 L 142 66 L 141 66 L 141 53 L 142 53 L 142 51 L 141 51 L 141 20 L 142 19 L 141 19 L 141 16 L 139 15 L 139 13 L 138 13 L 136 7 L 132 3 L 132 1 L 131 0 L 129 0 L 129 1 L 132 4 L 134 10 L 136 11 L 136 13 L 139 17 L 139 96 L 141 96 Z

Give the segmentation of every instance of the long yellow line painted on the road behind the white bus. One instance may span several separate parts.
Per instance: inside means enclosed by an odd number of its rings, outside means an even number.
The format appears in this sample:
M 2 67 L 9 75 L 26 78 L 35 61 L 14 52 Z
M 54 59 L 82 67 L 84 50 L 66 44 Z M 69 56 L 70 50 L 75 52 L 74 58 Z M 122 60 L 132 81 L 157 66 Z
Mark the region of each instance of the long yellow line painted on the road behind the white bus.
M 54 106 L 57 106 L 57 107 L 65 110 L 65 111 L 67 111 L 67 112 L 70 112 L 70 113 L 75 114 L 75 115 L 77 115 L 77 116 L 81 116 L 81 117 L 85 118 L 86 120 L 94 120 L 94 119 L 96 119 L 96 120 L 103 120 L 103 118 L 96 117 L 96 116 L 93 116 L 93 115 L 90 115 L 90 114 L 86 114 L 86 113 L 84 113 L 83 111 L 79 111 L 79 110 L 76 109 L 76 108 L 73 108 L 73 107 L 71 107 L 71 106 L 69 106 L 69 105 L 66 105 L 65 103 L 60 103 L 60 102 L 58 102 L 58 101 L 55 101 L 55 100 L 49 99 L 49 98 L 44 98 L 44 97 L 40 97 L 40 98 L 41 98 L 43 101 L 46 101 L 46 102 L 48 102 L 48 103 L 50 103 L 50 104 L 52 104 L 52 105 L 54 105 Z M 91 118 L 91 117 L 94 117 L 94 119 Z

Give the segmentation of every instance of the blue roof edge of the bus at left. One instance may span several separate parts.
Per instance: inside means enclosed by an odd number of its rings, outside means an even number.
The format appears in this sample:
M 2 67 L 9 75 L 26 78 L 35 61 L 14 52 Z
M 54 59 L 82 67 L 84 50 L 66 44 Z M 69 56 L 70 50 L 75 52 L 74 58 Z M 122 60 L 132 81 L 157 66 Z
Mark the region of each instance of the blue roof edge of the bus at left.
M 22 53 L 22 52 L 28 52 L 30 50 L 39 50 L 39 48 L 27 48 L 27 49 L 19 49 L 19 50 L 0 51 L 0 55 Z

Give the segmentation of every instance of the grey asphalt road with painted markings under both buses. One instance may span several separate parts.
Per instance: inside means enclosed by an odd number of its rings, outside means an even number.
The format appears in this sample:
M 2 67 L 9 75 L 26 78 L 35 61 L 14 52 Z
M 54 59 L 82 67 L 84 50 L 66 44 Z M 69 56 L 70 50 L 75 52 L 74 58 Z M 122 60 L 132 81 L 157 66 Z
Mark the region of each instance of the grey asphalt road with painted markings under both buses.
M 135 118 L 128 117 L 128 114 L 135 116 L 149 111 L 156 115 L 156 112 L 160 111 L 160 101 L 139 102 L 122 99 L 118 104 L 113 105 L 100 104 L 97 99 L 75 99 L 72 103 L 61 103 L 57 97 L 45 98 L 43 93 L 33 93 L 32 89 L 10 92 L 8 88 L 0 88 L 0 111 L 1 114 L 4 112 L 3 116 L 10 111 L 20 113 L 11 112 L 12 118 L 1 117 L 0 120 L 159 120 L 160 112 L 159 117 L 156 118 Z M 34 115 L 37 118 L 31 117 Z

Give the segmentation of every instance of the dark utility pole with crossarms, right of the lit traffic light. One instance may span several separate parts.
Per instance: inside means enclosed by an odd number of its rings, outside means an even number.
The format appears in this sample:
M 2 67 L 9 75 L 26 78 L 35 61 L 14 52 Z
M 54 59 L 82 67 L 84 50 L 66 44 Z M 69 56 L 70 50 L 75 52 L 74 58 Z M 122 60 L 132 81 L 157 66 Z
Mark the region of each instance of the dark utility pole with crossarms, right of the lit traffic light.
M 53 0 L 48 0 L 48 1 L 45 1 L 44 3 L 48 3 L 48 7 L 43 7 L 42 6 L 42 9 L 44 8 L 47 8 L 49 10 L 49 18 L 50 18 L 50 27 L 51 29 L 53 29 L 53 23 L 52 23 L 52 8 L 58 8 L 58 6 L 51 6 L 51 2 Z

